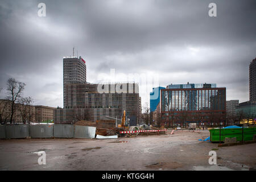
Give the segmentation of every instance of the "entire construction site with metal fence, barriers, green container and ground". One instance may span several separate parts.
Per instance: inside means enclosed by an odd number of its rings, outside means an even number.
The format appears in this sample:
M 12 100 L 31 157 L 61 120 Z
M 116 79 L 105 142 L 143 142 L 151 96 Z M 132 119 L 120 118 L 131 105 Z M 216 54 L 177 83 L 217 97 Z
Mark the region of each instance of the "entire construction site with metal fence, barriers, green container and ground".
M 156 128 L 121 121 L 1 126 L 0 170 L 255 170 L 255 127 Z M 243 146 L 241 146 L 243 144 Z M 210 151 L 216 164 L 210 164 Z M 39 165 L 39 154 L 46 160 Z

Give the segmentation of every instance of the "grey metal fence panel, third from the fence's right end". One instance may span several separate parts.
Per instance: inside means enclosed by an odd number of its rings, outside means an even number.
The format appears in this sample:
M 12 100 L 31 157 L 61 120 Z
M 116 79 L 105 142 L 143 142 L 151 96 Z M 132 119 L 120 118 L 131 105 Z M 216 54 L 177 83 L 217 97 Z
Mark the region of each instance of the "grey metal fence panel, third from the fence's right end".
M 53 137 L 53 125 L 30 125 L 31 138 Z

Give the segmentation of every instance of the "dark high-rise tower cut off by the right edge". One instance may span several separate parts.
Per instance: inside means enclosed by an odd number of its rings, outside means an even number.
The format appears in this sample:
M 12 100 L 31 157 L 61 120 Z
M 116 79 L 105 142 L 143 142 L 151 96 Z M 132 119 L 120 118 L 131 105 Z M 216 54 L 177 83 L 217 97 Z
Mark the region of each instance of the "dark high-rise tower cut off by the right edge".
M 256 58 L 249 66 L 250 102 L 256 102 Z

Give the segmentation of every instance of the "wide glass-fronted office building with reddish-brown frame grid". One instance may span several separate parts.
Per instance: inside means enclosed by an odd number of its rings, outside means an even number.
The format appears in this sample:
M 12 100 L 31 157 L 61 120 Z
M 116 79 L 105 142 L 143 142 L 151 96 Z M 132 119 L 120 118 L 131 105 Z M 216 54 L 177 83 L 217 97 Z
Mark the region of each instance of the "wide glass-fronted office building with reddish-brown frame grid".
M 216 84 L 177 84 L 161 89 L 161 125 L 187 126 L 225 124 L 226 88 Z M 201 123 L 201 124 L 200 124 Z

